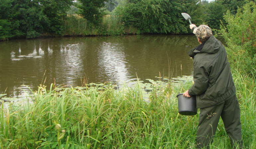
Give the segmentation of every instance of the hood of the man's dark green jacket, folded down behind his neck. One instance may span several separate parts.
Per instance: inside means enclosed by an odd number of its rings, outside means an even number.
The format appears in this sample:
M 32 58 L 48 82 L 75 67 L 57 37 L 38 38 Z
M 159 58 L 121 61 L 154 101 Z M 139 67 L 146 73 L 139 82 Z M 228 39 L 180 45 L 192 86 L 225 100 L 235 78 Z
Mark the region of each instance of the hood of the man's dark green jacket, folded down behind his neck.
M 222 46 L 222 43 L 215 37 L 211 36 L 204 43 L 191 49 L 188 52 L 188 54 L 190 57 L 193 58 L 196 55 L 196 53 L 216 53 L 220 50 L 221 46 Z

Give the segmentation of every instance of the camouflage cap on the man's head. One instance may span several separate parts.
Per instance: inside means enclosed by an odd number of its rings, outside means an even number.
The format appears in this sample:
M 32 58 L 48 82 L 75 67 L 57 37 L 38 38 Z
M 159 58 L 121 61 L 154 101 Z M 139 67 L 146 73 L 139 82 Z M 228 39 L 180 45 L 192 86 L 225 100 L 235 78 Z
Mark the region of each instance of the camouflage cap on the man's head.
M 201 39 L 205 39 L 212 35 L 211 29 L 207 25 L 199 25 L 198 27 L 194 28 L 193 33 Z

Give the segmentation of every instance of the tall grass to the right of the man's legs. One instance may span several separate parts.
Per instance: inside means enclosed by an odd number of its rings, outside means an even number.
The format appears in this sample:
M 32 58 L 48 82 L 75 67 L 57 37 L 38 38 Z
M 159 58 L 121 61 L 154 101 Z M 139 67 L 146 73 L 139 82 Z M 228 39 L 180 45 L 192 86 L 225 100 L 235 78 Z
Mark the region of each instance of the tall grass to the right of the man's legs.
M 244 75 L 245 72 L 233 70 L 236 94 L 240 103 L 243 141 L 248 148 L 256 148 L 256 79 L 252 75 L 256 74 L 256 70 L 253 71 L 250 75 Z

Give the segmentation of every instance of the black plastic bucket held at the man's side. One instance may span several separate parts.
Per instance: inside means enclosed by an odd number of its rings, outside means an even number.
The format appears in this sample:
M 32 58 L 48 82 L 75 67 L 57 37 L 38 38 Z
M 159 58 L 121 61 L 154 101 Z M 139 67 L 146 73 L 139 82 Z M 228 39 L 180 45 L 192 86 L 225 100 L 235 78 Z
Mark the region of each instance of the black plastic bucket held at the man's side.
M 178 94 L 178 108 L 181 115 L 196 115 L 196 97 L 184 97 L 183 94 Z

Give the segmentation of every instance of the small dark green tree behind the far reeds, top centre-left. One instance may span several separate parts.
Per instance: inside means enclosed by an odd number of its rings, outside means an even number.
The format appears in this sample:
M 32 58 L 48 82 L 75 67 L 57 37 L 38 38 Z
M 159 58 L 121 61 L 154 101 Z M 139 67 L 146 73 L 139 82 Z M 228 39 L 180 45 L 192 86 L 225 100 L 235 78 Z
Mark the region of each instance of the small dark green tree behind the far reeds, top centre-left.
M 94 25 L 98 25 L 103 16 L 105 15 L 104 10 L 105 7 L 104 2 L 109 2 L 110 0 L 78 0 L 81 2 L 81 5 L 78 5 L 79 8 L 78 14 L 83 18 L 87 19 L 90 23 Z

